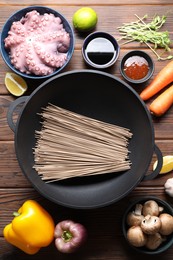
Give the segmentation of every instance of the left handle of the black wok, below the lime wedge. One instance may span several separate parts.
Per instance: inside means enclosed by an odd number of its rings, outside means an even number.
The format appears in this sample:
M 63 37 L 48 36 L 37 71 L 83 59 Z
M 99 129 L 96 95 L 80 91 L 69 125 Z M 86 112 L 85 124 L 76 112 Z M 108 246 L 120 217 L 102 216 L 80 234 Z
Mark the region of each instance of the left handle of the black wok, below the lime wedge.
M 8 125 L 13 132 L 15 132 L 15 129 L 16 129 L 16 124 L 13 121 L 13 113 L 14 113 L 17 106 L 26 102 L 27 98 L 28 98 L 28 96 L 22 96 L 20 98 L 17 98 L 15 101 L 13 101 L 10 104 L 10 107 L 8 109 L 8 112 L 7 112 L 7 122 L 8 122 Z

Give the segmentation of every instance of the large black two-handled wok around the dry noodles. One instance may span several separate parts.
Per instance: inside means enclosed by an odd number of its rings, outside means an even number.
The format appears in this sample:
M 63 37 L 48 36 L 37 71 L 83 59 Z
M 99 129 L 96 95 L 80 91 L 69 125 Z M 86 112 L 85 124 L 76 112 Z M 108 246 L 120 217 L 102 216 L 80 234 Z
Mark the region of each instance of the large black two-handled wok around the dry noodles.
M 24 100 L 14 125 L 13 111 Z M 33 147 L 35 130 L 41 127 L 38 113 L 48 102 L 129 128 L 133 133 L 129 144 L 131 169 L 49 184 L 42 181 L 33 169 Z M 60 205 L 85 209 L 109 205 L 126 196 L 142 180 L 156 177 L 162 166 L 162 154 L 155 145 L 152 119 L 144 102 L 128 84 L 104 72 L 72 71 L 47 80 L 30 96 L 12 103 L 8 122 L 15 131 L 15 150 L 23 173 L 38 192 Z M 154 152 L 158 156 L 158 167 L 146 176 Z

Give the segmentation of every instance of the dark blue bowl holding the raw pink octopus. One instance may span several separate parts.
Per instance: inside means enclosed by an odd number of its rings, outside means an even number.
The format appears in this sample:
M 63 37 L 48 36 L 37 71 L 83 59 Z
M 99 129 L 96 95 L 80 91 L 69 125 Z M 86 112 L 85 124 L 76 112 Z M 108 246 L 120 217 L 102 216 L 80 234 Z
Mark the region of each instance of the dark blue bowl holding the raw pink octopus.
M 45 13 L 51 13 L 54 14 L 56 17 L 59 17 L 62 21 L 63 27 L 66 30 L 66 32 L 69 33 L 70 35 L 70 46 L 67 52 L 67 60 L 64 63 L 64 65 L 62 67 L 57 68 L 52 74 L 49 75 L 45 75 L 45 76 L 37 76 L 34 74 L 26 74 L 26 73 L 22 73 L 20 72 L 18 69 L 16 69 L 12 64 L 11 64 L 11 60 L 10 60 L 10 56 L 9 56 L 9 51 L 5 48 L 4 46 L 4 39 L 8 36 L 8 32 L 11 28 L 11 25 L 13 22 L 19 21 L 22 17 L 24 17 L 28 12 L 31 12 L 33 10 L 36 10 L 38 13 L 40 13 L 41 15 L 45 14 Z M 9 19 L 6 21 L 6 23 L 4 24 L 3 28 L 2 28 L 2 33 L 1 33 L 1 43 L 0 43 L 0 49 L 1 49 L 1 55 L 3 60 L 5 61 L 5 63 L 7 64 L 7 66 L 16 74 L 25 77 L 25 78 L 29 78 L 29 79 L 47 79 L 51 76 L 55 76 L 56 74 L 58 74 L 62 69 L 65 68 L 65 66 L 68 64 L 68 62 L 70 61 L 72 55 L 73 55 L 73 51 L 74 51 L 74 32 L 73 29 L 71 27 L 71 25 L 69 24 L 69 22 L 67 21 L 67 19 L 58 11 L 48 8 L 48 7 L 44 7 L 44 6 L 29 6 L 26 8 L 23 8 L 17 12 L 15 12 L 11 17 L 9 17 Z

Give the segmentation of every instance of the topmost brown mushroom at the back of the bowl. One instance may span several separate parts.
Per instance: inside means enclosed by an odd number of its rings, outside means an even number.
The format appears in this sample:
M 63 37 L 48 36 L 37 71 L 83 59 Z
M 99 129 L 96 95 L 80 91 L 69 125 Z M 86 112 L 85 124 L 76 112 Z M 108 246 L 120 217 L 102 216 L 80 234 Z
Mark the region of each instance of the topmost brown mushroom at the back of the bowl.
M 163 211 L 163 207 L 159 207 L 156 201 L 148 200 L 144 203 L 142 214 L 144 216 L 159 216 L 159 214 Z

